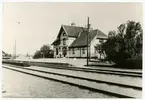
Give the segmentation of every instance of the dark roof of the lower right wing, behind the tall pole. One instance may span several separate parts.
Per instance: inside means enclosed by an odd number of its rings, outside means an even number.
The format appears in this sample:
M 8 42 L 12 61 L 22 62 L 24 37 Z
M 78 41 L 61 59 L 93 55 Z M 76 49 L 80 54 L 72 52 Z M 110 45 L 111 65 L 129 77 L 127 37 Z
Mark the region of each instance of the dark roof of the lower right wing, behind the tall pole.
M 100 30 L 91 30 L 89 33 L 89 40 L 88 43 L 90 43 L 94 37 L 97 35 L 97 38 L 107 38 L 107 35 L 105 35 Z M 70 45 L 70 47 L 81 47 L 81 46 L 87 46 L 87 32 L 82 32 L 80 36 Z

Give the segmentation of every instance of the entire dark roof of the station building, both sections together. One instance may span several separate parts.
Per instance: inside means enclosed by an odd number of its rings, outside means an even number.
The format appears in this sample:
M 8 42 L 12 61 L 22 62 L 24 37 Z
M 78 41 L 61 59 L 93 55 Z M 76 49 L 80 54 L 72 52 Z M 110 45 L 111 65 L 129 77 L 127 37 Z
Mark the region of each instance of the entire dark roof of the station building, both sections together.
M 59 41 L 60 33 L 64 30 L 68 37 L 75 37 L 76 40 L 70 45 L 70 47 L 79 47 L 79 46 L 87 46 L 87 28 L 79 27 L 79 26 L 69 26 L 69 25 L 62 25 L 57 36 L 57 39 L 52 43 L 56 44 Z M 80 35 L 80 36 L 79 36 Z M 102 31 L 96 29 L 91 30 L 89 35 L 89 43 L 94 39 L 97 35 L 99 39 L 107 39 L 108 36 L 104 34 Z

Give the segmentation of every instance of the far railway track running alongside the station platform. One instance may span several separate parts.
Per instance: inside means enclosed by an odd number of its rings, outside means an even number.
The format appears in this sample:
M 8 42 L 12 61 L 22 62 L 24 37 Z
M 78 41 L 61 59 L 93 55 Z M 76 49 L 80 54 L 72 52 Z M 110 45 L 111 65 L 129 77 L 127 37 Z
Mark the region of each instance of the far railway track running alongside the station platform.
M 64 63 L 47 63 L 47 62 L 26 62 L 31 66 L 38 67 L 46 67 L 46 68 L 54 68 L 54 69 L 64 69 L 64 70 L 74 70 L 74 71 L 83 71 L 83 72 L 91 72 L 91 73 L 100 73 L 100 74 L 112 74 L 112 75 L 121 75 L 121 76 L 129 76 L 129 77 L 142 77 L 141 71 L 126 71 L 126 70 L 110 70 L 110 69 L 100 69 L 100 68 L 80 68 L 75 67 L 70 64 Z M 68 67 L 70 66 L 70 67 Z

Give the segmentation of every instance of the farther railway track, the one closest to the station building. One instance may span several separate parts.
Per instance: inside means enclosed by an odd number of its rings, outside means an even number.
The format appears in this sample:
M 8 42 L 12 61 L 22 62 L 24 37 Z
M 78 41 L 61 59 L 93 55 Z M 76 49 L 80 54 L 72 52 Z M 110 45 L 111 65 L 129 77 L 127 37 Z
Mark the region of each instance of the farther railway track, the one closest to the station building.
M 41 63 L 41 62 L 38 62 Z M 46 68 L 54 68 L 54 69 L 64 69 L 64 70 L 74 70 L 74 71 L 83 71 L 83 72 L 91 72 L 91 73 L 100 73 L 100 74 L 112 74 L 112 75 L 121 75 L 121 76 L 130 76 L 130 77 L 142 77 L 142 72 L 138 71 L 119 71 L 119 70 L 106 70 L 106 69 L 99 69 L 99 68 L 80 68 L 80 67 L 68 67 L 68 66 L 51 66 L 49 63 L 42 63 L 43 66 L 38 67 L 46 67 Z M 33 65 L 33 63 L 32 63 Z M 35 65 L 35 64 L 34 64 Z

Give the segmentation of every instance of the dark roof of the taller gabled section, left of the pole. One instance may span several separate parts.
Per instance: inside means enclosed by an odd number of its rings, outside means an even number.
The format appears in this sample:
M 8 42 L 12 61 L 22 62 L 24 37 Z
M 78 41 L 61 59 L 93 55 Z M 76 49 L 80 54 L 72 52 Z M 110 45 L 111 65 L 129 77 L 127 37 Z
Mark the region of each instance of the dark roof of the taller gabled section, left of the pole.
M 87 31 L 85 27 L 62 25 L 69 37 L 77 37 L 79 33 Z

